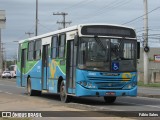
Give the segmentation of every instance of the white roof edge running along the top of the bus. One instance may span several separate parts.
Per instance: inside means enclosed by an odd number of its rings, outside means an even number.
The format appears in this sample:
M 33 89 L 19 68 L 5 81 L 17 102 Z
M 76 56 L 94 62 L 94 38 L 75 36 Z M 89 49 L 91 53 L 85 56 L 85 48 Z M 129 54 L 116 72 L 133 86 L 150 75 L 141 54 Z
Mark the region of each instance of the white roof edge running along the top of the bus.
M 67 28 L 64 28 L 64 29 L 56 30 L 56 31 L 53 31 L 53 32 L 49 32 L 49 33 L 46 33 L 46 34 L 38 35 L 38 36 L 35 36 L 35 37 L 23 39 L 23 40 L 20 40 L 19 43 L 23 43 L 26 40 L 27 41 L 31 41 L 31 40 L 35 40 L 35 39 L 39 39 L 39 38 L 49 37 L 51 35 L 58 34 L 58 33 L 73 31 L 73 30 L 76 30 L 76 29 L 78 29 L 78 28 L 80 28 L 82 26 L 89 26 L 89 25 L 117 26 L 117 27 L 124 27 L 124 28 L 129 28 L 129 29 L 133 29 L 134 30 L 134 28 L 132 28 L 132 27 L 128 27 L 128 26 L 124 26 L 124 25 L 117 25 L 117 24 L 106 24 L 106 23 L 79 24 L 79 25 L 67 27 Z

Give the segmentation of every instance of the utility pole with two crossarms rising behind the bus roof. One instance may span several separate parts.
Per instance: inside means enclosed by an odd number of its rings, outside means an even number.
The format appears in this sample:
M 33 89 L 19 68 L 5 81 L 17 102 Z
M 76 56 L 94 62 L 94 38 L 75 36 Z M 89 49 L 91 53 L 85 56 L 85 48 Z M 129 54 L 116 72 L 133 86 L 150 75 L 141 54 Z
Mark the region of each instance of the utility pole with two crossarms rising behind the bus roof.
M 62 24 L 63 25 L 63 28 L 66 28 L 66 24 L 71 24 L 72 22 L 69 21 L 69 22 L 66 22 L 66 15 L 68 15 L 68 13 L 65 13 L 65 12 L 57 12 L 57 13 L 53 13 L 53 15 L 62 15 L 63 16 L 63 20 L 62 21 L 57 21 L 58 24 Z

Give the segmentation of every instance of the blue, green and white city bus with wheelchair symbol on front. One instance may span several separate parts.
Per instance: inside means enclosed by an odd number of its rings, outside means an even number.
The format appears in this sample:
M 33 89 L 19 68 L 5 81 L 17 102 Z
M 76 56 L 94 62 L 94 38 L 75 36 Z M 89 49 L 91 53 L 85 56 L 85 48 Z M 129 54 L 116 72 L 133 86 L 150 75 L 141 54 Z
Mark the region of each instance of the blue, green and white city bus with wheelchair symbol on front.
M 29 95 L 137 95 L 139 43 L 133 28 L 112 24 L 80 24 L 19 41 L 17 85 Z

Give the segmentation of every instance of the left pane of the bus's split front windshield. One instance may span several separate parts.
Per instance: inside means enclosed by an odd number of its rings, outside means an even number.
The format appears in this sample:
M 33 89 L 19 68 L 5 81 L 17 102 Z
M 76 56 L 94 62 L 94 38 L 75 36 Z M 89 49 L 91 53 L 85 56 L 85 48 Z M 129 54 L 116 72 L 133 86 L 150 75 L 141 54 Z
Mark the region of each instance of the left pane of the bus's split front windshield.
M 81 38 L 78 65 L 80 69 L 108 71 L 110 68 L 109 39 Z

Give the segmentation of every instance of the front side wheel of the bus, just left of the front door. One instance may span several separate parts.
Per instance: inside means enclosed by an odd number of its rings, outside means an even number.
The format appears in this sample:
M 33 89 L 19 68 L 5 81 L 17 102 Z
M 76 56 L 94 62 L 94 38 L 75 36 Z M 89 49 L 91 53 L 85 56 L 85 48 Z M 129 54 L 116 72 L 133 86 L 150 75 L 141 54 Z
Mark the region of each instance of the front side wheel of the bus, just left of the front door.
M 64 80 L 60 84 L 60 98 L 61 98 L 61 101 L 64 103 L 68 103 L 71 100 L 71 97 L 66 92 L 66 85 Z

